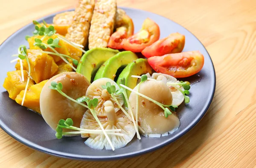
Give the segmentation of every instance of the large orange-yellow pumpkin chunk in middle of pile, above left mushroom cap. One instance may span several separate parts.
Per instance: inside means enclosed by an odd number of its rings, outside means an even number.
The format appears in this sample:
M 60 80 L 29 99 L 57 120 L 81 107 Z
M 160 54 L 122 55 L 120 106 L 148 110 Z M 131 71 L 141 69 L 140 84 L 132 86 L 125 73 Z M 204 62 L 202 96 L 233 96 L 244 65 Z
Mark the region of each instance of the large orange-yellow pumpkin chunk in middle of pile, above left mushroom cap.
M 39 49 L 28 49 L 29 64 L 31 67 L 31 77 L 35 83 L 47 80 L 58 71 L 58 65 L 54 62 L 53 58 L 45 53 L 41 53 Z M 29 70 L 26 60 L 22 60 L 23 69 Z M 18 63 L 19 64 L 19 61 Z M 19 65 L 20 66 L 20 65 Z M 16 68 L 19 66 L 15 66 Z

